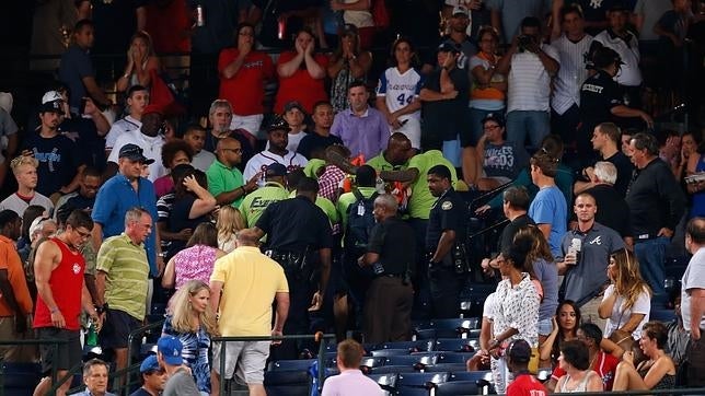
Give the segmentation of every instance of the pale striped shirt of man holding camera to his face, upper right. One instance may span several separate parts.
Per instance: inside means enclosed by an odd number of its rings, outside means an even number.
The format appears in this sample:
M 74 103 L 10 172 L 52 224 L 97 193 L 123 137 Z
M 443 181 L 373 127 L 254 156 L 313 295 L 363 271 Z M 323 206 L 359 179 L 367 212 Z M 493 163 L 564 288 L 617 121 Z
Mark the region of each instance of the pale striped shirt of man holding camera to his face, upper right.
M 559 60 L 558 51 L 552 46 L 542 44 L 541 49 L 554 60 Z M 548 112 L 551 75 L 541 63 L 539 55 L 530 51 L 512 55 L 508 82 L 507 113 Z

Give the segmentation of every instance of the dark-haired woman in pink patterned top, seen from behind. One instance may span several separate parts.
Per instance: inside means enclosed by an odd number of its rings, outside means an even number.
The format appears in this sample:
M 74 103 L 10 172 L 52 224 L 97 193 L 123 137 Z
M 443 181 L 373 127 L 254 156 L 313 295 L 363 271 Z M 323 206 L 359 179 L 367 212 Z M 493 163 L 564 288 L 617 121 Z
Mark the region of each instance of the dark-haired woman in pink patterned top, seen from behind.
M 218 248 L 218 230 L 211 223 L 200 223 L 186 246 L 166 264 L 162 287 L 180 290 L 190 280 L 208 282 L 216 260 L 226 253 Z

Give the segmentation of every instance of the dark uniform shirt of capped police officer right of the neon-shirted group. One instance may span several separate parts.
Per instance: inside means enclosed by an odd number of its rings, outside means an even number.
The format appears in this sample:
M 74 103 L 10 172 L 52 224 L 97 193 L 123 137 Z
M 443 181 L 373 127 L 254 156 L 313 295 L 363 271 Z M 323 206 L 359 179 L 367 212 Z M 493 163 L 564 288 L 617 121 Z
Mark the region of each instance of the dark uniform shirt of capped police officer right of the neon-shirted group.
M 455 231 L 455 243 L 464 243 L 467 234 L 467 205 L 452 187 L 431 208 L 426 230 L 426 248 L 434 251 L 446 230 Z

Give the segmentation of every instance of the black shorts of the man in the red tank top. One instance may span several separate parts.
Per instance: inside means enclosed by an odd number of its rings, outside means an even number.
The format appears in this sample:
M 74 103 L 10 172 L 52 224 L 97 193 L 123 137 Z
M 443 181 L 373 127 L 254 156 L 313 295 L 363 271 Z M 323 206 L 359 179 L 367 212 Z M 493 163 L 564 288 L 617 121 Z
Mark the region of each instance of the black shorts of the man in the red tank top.
M 57 327 L 37 328 L 37 338 L 39 339 L 58 339 L 67 342 L 59 343 L 57 356 L 54 356 L 54 345 L 43 343 L 39 346 L 42 356 L 42 373 L 49 375 L 53 368 L 59 371 L 68 371 L 81 364 L 83 349 L 81 348 L 81 331 L 68 330 Z

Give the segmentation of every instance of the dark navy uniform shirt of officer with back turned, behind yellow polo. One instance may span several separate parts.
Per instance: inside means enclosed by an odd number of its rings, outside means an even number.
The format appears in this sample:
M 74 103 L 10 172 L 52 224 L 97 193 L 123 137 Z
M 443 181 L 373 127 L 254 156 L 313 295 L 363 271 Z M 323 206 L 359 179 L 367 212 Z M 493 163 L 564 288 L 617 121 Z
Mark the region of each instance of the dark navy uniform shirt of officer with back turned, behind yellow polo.
M 307 247 L 333 247 L 328 218 L 305 197 L 270 203 L 255 225 L 267 234 L 269 249 L 303 253 Z

